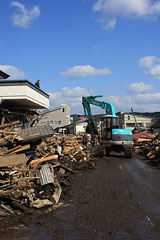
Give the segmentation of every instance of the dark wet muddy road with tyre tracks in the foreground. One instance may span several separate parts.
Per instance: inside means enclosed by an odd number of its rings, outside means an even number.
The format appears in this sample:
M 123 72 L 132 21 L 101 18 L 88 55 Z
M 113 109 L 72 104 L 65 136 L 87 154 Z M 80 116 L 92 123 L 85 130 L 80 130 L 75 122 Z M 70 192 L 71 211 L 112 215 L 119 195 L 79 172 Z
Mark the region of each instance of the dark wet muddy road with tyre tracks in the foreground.
M 64 206 L 1 223 L 2 240 L 160 239 L 160 170 L 137 156 L 97 159 L 75 176 Z

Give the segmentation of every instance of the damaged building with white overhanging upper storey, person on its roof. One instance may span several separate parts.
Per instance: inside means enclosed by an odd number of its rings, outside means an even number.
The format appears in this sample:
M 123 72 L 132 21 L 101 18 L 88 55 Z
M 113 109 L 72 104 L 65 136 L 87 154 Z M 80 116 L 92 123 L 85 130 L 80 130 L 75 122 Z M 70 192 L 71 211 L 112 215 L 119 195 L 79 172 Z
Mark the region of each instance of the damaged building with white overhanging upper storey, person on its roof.
M 1 79 L 7 77 L 0 74 Z M 49 95 L 30 81 L 0 80 L 1 125 L 19 120 L 23 128 L 31 126 L 36 110 L 48 108 Z

